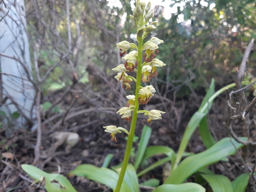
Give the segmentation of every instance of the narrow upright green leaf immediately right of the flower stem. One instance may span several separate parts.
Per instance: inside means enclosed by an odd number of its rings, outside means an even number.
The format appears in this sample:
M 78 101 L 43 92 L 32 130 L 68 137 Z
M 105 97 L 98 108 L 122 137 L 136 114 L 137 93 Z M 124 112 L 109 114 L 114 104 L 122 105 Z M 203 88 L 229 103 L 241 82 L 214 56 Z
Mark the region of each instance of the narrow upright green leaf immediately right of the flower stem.
M 148 142 L 150 140 L 151 132 L 152 132 L 152 129 L 149 126 L 145 125 L 142 129 L 141 139 L 140 139 L 140 142 L 138 144 L 137 157 L 136 157 L 136 160 L 135 160 L 135 163 L 134 163 L 135 170 L 138 169 L 139 165 L 142 162 L 142 158 L 144 156 L 144 153 L 146 151 Z

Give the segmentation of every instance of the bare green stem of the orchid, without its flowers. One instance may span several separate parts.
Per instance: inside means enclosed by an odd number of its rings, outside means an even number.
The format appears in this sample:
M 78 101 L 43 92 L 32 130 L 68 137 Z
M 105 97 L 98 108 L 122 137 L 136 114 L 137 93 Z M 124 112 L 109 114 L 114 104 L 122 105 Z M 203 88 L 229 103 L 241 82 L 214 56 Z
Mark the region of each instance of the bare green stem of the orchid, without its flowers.
M 116 188 L 114 189 L 114 192 L 120 192 L 123 178 L 126 172 L 126 168 L 130 159 L 130 152 L 132 149 L 133 145 L 133 139 L 134 139 L 134 132 L 136 128 L 136 122 L 137 122 L 137 117 L 138 117 L 138 96 L 139 96 L 139 90 L 141 86 L 141 78 L 142 78 L 142 45 L 143 45 L 143 39 L 142 37 L 138 38 L 138 71 L 137 71 L 137 82 L 136 82 L 136 91 L 135 91 L 135 102 L 134 102 L 134 111 L 133 111 L 133 116 L 132 116 L 132 121 L 131 121 L 131 126 L 130 126 L 130 134 L 128 136 L 128 141 L 126 144 L 126 150 L 125 150 L 125 155 L 124 159 L 122 162 L 122 169 L 119 174 L 118 182 L 116 185 Z

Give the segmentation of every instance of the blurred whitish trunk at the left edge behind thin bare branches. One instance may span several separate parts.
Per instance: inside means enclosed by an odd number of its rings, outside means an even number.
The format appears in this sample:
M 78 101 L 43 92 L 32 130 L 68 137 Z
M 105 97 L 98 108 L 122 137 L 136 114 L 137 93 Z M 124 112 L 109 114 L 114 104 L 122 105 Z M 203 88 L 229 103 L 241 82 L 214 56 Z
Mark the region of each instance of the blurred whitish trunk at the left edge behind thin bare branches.
M 26 26 L 24 0 L 0 1 L 0 111 L 7 116 L 2 120 L 7 136 L 13 127 L 32 126 L 35 117 Z

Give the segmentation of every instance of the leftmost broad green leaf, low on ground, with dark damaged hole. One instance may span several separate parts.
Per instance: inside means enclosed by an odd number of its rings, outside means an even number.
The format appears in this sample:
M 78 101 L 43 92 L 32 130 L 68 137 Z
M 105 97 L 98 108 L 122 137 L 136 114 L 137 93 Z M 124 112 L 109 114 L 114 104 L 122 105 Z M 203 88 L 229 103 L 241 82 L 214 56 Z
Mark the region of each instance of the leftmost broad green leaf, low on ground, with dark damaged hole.
M 21 167 L 33 179 L 38 181 L 45 180 L 44 188 L 47 192 L 76 192 L 75 188 L 65 176 L 44 172 L 33 165 L 24 164 Z

